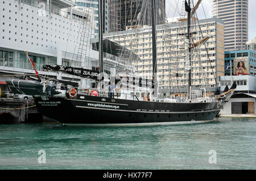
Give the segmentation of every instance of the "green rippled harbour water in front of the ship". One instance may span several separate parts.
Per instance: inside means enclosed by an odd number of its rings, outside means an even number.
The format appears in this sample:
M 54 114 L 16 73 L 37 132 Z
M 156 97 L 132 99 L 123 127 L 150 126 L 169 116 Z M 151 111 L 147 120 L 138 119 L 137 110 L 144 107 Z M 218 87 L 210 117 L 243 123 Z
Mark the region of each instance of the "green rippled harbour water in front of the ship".
M 40 150 L 46 163 L 38 162 Z M 1 124 L 0 169 L 254 170 L 256 119 L 147 127 Z

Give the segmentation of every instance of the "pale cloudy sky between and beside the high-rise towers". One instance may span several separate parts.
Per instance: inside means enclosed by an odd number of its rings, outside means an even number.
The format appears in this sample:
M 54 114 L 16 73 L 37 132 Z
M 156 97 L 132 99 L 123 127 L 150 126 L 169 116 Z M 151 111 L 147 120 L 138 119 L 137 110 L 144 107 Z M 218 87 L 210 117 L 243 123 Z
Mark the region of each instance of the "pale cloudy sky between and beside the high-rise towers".
M 193 1 L 193 0 L 192 0 Z M 167 18 L 173 18 L 175 16 L 180 16 L 180 11 L 182 7 L 182 2 L 183 0 L 166 0 L 166 14 Z M 194 0 L 194 3 L 197 1 Z M 248 7 L 249 7 L 249 12 L 248 12 L 248 32 L 249 32 L 249 37 L 248 39 L 254 39 L 256 37 L 256 1 L 255 0 L 248 0 Z M 212 17 L 212 5 L 211 5 L 211 0 L 203 0 L 201 2 L 201 5 L 199 6 L 199 9 L 196 11 L 197 12 L 197 17 L 199 19 L 205 19 L 205 18 L 210 18 Z M 178 6 L 177 6 L 178 5 Z M 179 7 L 179 8 L 177 8 Z

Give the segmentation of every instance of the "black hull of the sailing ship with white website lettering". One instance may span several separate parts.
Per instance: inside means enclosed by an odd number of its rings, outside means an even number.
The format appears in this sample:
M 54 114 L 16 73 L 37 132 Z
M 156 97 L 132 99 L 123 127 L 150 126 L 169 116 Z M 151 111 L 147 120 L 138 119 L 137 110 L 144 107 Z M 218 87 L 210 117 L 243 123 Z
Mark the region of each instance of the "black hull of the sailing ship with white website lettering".
M 80 96 L 78 95 L 77 98 Z M 35 98 L 38 111 L 64 125 L 115 126 L 205 123 L 220 112 L 217 103 L 159 103 L 81 96 Z

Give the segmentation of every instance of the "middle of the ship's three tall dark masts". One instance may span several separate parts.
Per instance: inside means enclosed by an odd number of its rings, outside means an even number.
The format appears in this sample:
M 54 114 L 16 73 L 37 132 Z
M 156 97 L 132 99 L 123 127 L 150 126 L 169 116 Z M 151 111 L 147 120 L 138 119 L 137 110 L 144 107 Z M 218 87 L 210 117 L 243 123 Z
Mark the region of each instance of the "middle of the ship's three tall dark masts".
M 156 66 L 155 0 L 151 0 L 151 8 L 152 8 L 152 68 L 153 68 L 153 81 L 154 81 L 154 95 L 158 96 L 158 79 L 157 79 L 157 66 Z

